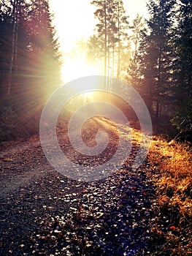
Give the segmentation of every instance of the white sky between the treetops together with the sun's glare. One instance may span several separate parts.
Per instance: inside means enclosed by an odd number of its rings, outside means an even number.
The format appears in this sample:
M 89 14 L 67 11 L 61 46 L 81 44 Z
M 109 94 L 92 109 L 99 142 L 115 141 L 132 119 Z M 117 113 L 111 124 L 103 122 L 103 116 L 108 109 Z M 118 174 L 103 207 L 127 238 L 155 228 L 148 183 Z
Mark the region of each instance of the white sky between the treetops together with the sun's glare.
M 96 22 L 93 12 L 96 7 L 91 4 L 91 0 L 49 0 L 50 10 L 54 13 L 54 26 L 57 31 L 61 50 L 64 52 L 64 67 L 62 69 L 64 81 L 79 78 L 85 75 L 99 75 L 99 70 L 95 67 L 88 67 L 84 57 L 75 61 L 68 58 L 66 53 L 75 48 L 75 42 L 80 39 L 87 39 L 93 34 Z M 146 0 L 147 1 L 147 0 Z M 147 16 L 145 0 L 124 0 L 124 7 L 129 22 L 133 20 L 137 13 Z M 74 74 L 74 70 L 75 74 Z

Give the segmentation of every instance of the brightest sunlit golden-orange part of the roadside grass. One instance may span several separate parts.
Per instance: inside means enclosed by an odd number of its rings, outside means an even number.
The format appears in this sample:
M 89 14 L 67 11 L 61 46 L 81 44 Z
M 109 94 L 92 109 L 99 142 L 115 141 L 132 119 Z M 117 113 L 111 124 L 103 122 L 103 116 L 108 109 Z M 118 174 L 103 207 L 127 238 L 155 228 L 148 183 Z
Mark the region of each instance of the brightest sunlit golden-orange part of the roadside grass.
M 174 197 L 188 198 L 192 189 L 192 152 L 185 143 L 152 140 L 150 161 L 159 166 L 161 189 L 172 190 Z M 184 198 L 183 198 L 184 197 Z

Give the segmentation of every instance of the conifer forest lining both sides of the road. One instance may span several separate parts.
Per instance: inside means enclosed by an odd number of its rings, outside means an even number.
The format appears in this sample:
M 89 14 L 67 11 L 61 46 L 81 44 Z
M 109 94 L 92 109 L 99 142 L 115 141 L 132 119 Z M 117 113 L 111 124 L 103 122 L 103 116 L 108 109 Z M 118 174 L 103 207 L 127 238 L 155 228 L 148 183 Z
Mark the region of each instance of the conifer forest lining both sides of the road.
M 123 1 L 91 4 L 98 23 L 74 56 L 85 53 L 102 74 L 137 89 L 155 132 L 191 140 L 191 1 L 149 1 L 149 19 L 131 21 Z M 48 1 L 1 1 L 0 21 L 1 140 L 9 140 L 38 131 L 43 102 L 62 85 L 63 60 Z

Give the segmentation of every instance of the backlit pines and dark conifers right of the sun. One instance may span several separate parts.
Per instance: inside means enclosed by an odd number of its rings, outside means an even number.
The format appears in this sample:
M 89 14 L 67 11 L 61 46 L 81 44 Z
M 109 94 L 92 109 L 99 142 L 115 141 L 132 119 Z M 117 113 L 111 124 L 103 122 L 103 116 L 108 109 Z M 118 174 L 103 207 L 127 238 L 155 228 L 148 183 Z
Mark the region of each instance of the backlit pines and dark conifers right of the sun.
M 180 136 L 191 136 L 192 1 L 150 0 L 149 19 L 137 15 L 131 25 L 123 1 L 92 4 L 98 19 L 88 39 L 93 60 L 104 64 L 106 75 L 112 67 L 112 76 L 139 91 L 155 124 L 166 117 Z

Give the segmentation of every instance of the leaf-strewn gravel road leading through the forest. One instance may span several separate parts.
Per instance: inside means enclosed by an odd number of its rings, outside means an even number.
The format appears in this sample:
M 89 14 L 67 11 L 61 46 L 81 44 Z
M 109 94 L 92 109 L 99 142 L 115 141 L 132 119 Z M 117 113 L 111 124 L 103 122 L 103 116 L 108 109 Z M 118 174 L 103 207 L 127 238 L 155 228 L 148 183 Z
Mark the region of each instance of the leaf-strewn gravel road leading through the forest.
M 113 126 L 99 118 L 87 125 L 94 131 Z M 119 127 L 129 140 L 130 128 Z M 67 143 L 65 132 L 64 127 L 58 133 L 61 147 Z M 112 127 L 110 148 L 115 132 Z M 92 135 L 86 129 L 82 138 L 93 143 Z M 82 182 L 54 170 L 38 139 L 7 144 L 0 154 L 0 255 L 135 255 L 144 250 L 155 192 L 145 173 L 147 161 L 131 170 L 137 149 L 134 140 L 128 161 L 112 176 Z

